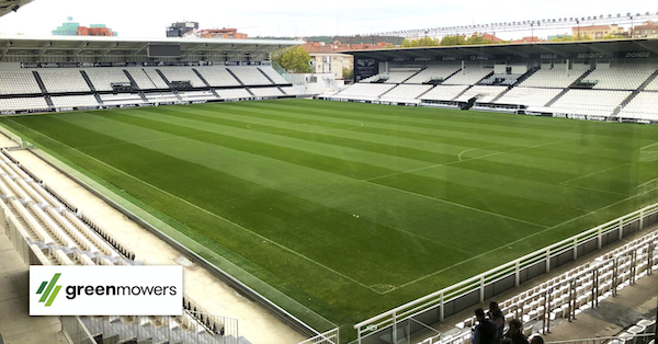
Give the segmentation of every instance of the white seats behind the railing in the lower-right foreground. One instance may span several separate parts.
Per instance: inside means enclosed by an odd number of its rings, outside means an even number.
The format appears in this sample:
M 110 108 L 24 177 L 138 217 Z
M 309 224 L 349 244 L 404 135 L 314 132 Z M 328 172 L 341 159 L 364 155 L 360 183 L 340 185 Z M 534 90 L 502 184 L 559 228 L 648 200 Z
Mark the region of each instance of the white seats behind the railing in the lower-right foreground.
M 633 285 L 636 279 L 646 276 L 649 270 L 657 270 L 656 244 L 658 244 L 658 233 L 646 234 L 499 302 L 506 323 L 511 319 L 522 320 L 523 334 L 530 336 L 544 325 L 544 317 L 551 321 L 560 318 L 571 319 L 574 314 L 591 308 L 592 301 L 611 297 L 622 288 Z M 653 250 L 653 254 L 649 254 L 649 250 Z M 633 251 L 637 254 L 635 262 L 632 260 Z M 635 264 L 634 268 L 632 264 Z M 598 274 L 598 280 L 593 278 L 593 272 Z M 593 297 L 597 299 L 593 300 Z M 428 337 L 419 344 L 468 344 L 472 335 L 470 326 L 475 323 L 476 318 L 468 317 L 458 322 L 453 330 Z M 637 330 L 635 332 L 639 333 L 651 325 L 655 326 L 655 320 L 644 321 L 644 328 L 638 326 L 634 331 Z

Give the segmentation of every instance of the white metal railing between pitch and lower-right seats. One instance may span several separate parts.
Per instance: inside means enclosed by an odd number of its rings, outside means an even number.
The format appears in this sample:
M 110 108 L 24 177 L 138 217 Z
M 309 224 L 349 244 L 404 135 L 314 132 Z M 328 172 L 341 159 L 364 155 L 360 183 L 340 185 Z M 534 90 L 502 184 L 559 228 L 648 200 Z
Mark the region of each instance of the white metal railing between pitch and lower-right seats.
M 646 225 L 649 225 L 646 223 L 647 218 L 656 214 L 658 214 L 658 203 L 360 322 L 354 325 L 354 329 L 358 331 L 358 342 L 361 343 L 364 337 L 388 328 L 392 328 L 390 337 L 397 339 L 398 323 L 428 311 L 436 310 L 436 320 L 443 321 L 446 314 L 445 305 L 447 302 L 475 294 L 477 295 L 477 298 L 472 297 L 474 302 L 470 303 L 481 303 L 485 301 L 486 290 L 489 289 L 489 286 L 508 278 L 513 278 L 511 287 L 519 286 L 522 283 L 522 272 L 529 272 L 531 268 L 534 268 L 542 273 L 547 273 L 552 268 L 566 263 L 560 261 L 575 261 L 579 256 L 597 249 L 601 249 L 608 241 L 622 239 L 625 232 L 631 232 L 632 229 L 634 229 L 634 226 L 637 226 L 636 230 L 644 229 Z M 651 217 L 650 222 L 656 221 L 658 221 L 658 219 Z M 506 290 L 510 288 L 507 288 Z M 504 290 L 500 290 L 499 293 L 502 291 Z M 456 308 L 455 302 L 452 302 L 452 305 Z M 462 302 L 462 309 L 453 309 L 452 313 L 456 313 L 473 305 L 469 305 L 468 301 Z M 404 326 L 400 331 L 404 331 Z

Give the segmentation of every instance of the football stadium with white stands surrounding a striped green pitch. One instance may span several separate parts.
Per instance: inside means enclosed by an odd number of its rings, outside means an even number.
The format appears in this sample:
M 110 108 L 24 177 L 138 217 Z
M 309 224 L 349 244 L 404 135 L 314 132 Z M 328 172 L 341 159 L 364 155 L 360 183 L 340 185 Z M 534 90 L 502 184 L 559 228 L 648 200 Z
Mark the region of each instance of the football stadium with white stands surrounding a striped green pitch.
M 352 50 L 320 94 L 300 44 L 0 36 L 7 265 L 183 266 L 183 316 L 63 343 L 468 344 L 492 300 L 580 343 L 629 295 L 588 343 L 654 339 L 658 38 Z

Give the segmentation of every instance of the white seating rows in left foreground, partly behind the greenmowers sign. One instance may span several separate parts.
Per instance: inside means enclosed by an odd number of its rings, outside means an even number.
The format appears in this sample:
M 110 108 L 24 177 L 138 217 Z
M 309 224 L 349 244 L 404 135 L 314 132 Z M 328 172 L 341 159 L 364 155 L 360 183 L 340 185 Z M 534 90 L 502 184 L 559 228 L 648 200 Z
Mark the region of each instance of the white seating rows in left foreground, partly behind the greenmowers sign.
M 88 216 L 73 213 L 32 179 L 5 151 L 0 152 L 0 204 L 10 216 L 10 231 L 26 241 L 42 265 L 140 265 L 117 240 Z M 10 238 L 15 238 L 11 236 Z M 154 343 L 226 343 L 225 319 L 209 316 L 189 296 L 179 317 L 84 317 L 91 333 L 117 343 L 137 336 Z M 121 318 L 121 319 L 120 319 Z M 234 320 L 237 322 L 237 320 Z M 164 328 L 167 325 L 167 328 Z M 139 328 L 135 328 L 139 326 Z M 145 329 L 146 328 L 146 329 Z M 237 324 L 235 325 L 237 329 Z M 237 333 L 236 333 L 237 334 Z

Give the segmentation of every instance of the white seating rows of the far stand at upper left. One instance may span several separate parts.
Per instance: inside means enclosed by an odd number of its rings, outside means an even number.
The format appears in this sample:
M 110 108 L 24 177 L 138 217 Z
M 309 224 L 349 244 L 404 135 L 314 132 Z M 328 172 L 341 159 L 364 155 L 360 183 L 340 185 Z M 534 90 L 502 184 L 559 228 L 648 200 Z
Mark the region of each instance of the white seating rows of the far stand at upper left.
M 45 90 L 39 87 L 38 78 L 43 81 Z M 197 90 L 181 90 L 179 95 L 172 94 L 171 91 L 175 92 L 173 89 L 180 89 L 180 85 L 173 83 L 188 81 L 193 89 Z M 133 87 L 133 92 L 144 92 L 146 100 L 140 93 L 116 93 L 118 85 Z M 280 85 L 286 89 L 280 89 Z M 252 89 L 251 92 L 247 90 L 249 87 Z M 260 89 L 260 87 L 264 88 Z M 241 90 L 219 92 L 220 89 L 215 88 L 241 88 Z M 154 92 L 157 90 L 163 93 Z M 94 96 L 94 92 L 99 99 Z M 109 94 L 109 92 L 114 93 Z M 126 90 L 118 90 L 118 92 L 126 92 Z M 271 66 L 97 67 L 0 71 L 0 95 L 20 94 L 44 95 L 2 98 L 0 111 L 48 111 L 101 105 L 139 105 L 146 102 L 276 98 L 299 95 L 299 92 Z

